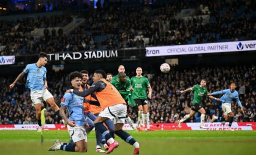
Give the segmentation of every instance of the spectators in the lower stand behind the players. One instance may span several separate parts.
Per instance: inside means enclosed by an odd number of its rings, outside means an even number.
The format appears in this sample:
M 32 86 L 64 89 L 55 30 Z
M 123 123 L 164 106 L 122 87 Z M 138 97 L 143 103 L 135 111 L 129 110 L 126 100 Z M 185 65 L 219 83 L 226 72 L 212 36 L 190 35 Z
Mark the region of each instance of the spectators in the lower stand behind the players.
M 127 73 L 134 76 L 134 73 Z M 48 72 L 48 87 L 57 105 L 60 106 L 61 98 L 70 87 L 68 74 Z M 237 81 L 237 91 L 246 115 L 243 116 L 240 107 L 232 101 L 232 111 L 235 122 L 256 121 L 256 66 L 234 66 L 234 67 L 196 67 L 180 68 L 172 66 L 169 74 L 146 73 L 152 86 L 152 99 L 149 101 L 149 112 L 151 123 L 177 123 L 191 110 L 193 93 L 188 92 L 180 95 L 180 90 L 199 84 L 201 78 L 207 80 L 209 92 L 229 88 L 230 81 Z M 90 75 L 92 77 L 92 74 Z M 31 106 L 30 92 L 26 88 L 26 77 L 17 82 L 13 90 L 9 84 L 13 81 L 10 77 L 0 77 L 0 124 L 22 124 L 37 123 L 36 111 Z M 91 78 L 90 78 L 91 79 Z M 91 81 L 90 81 L 91 82 Z M 216 96 L 220 97 L 220 96 Z M 221 103 L 209 98 L 203 99 L 203 107 L 206 111 L 205 121 L 210 122 L 211 115 L 222 116 Z M 55 112 L 46 105 L 46 123 L 62 123 Z M 130 117 L 136 122 L 137 115 L 130 108 Z M 188 120 L 188 122 L 199 122 L 200 114 Z

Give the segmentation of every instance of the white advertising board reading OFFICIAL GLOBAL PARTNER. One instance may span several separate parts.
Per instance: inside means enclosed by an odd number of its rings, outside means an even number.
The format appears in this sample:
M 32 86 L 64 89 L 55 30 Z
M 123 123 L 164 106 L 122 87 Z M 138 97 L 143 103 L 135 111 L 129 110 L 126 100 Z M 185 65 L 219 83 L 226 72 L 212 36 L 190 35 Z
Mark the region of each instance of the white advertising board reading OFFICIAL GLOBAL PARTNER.
M 146 56 L 185 55 L 256 50 L 256 40 L 146 48 Z

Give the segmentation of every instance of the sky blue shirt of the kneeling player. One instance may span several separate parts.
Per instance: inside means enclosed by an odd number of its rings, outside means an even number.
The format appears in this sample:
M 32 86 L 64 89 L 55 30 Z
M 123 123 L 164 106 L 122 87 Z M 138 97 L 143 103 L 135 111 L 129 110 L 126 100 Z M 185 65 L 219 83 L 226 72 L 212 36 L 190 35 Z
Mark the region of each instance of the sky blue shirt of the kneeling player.
M 66 93 L 61 99 L 61 106 L 68 108 L 70 115 L 69 121 L 75 121 L 76 126 L 84 126 L 86 124 L 85 110 L 83 108 L 83 97 L 73 93 Z

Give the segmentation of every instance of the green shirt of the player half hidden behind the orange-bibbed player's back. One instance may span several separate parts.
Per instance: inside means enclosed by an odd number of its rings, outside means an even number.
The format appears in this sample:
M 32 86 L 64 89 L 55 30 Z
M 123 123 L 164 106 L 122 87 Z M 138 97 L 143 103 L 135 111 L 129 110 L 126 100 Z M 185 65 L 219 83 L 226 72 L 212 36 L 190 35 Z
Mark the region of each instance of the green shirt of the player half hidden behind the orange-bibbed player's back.
M 116 89 L 120 92 L 122 98 L 124 100 L 128 100 L 128 96 L 131 90 L 131 82 L 130 80 L 126 79 L 125 82 L 119 82 L 119 78 L 115 80 L 111 80 L 111 84 L 116 87 Z

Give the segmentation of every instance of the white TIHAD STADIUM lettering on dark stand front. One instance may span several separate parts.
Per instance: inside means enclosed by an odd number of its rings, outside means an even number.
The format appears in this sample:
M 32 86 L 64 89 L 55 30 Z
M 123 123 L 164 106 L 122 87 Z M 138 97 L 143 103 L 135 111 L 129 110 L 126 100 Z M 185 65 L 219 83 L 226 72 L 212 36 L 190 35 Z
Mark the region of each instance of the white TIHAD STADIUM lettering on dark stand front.
M 48 54 L 50 60 L 80 60 L 118 57 L 117 50 L 78 51 Z

